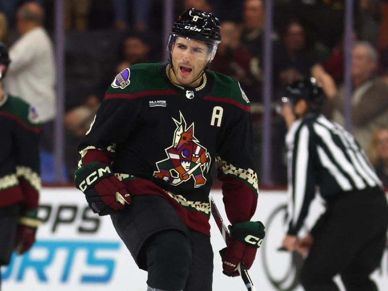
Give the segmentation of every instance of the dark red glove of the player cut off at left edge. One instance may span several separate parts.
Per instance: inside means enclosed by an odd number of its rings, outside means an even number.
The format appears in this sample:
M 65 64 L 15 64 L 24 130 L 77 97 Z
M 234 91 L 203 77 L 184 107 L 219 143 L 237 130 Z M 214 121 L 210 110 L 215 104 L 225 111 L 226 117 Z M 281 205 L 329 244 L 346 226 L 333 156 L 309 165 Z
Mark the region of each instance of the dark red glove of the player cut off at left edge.
M 40 224 L 37 213 L 37 209 L 28 210 L 20 217 L 15 239 L 15 251 L 19 255 L 27 252 L 35 242 L 36 229 Z

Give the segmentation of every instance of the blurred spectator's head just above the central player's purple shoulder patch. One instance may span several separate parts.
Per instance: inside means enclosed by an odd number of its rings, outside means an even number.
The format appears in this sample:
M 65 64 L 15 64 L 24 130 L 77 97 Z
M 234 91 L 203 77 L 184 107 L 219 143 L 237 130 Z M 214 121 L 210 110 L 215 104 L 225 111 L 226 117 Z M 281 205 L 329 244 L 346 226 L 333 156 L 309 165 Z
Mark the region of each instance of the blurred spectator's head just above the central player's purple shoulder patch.
M 117 73 L 120 73 L 130 65 L 148 63 L 151 46 L 149 37 L 143 32 L 129 32 L 123 40 L 121 49 L 123 60 L 117 65 Z

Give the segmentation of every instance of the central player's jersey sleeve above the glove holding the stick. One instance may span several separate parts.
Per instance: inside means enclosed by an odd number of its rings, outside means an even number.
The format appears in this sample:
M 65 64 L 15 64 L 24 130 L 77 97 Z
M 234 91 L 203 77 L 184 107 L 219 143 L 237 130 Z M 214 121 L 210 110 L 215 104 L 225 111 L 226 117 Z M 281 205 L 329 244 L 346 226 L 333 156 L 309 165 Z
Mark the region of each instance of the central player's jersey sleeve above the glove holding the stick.
M 236 108 L 233 115 L 235 120 L 226 129 L 216 157 L 217 178 L 222 181 L 226 215 L 232 225 L 252 218 L 258 197 L 251 114 Z

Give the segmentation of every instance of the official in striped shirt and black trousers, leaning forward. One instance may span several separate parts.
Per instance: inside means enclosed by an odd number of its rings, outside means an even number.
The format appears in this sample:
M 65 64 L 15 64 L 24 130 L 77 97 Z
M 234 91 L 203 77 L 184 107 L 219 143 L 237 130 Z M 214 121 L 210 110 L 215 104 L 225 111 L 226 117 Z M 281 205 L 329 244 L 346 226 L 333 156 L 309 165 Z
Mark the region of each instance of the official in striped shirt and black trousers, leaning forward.
M 300 278 L 307 291 L 338 291 L 337 274 L 347 291 L 375 291 L 369 275 L 386 245 L 387 200 L 355 138 L 321 114 L 324 98 L 311 78 L 287 86 L 279 104 L 289 128 L 289 228 L 282 245 L 307 255 Z M 317 188 L 326 211 L 298 238 Z

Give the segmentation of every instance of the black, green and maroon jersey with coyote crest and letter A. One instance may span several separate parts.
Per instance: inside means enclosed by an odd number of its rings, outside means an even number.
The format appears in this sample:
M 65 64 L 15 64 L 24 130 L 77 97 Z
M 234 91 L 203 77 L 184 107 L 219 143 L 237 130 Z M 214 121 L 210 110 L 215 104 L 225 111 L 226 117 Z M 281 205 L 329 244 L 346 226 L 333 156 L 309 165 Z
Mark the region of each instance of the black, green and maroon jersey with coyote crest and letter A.
M 162 195 L 209 234 L 215 162 L 229 221 L 248 221 L 258 191 L 249 100 L 237 81 L 212 71 L 197 88 L 174 85 L 168 67 L 133 65 L 116 76 L 79 145 L 79 166 L 88 150 L 103 151 L 129 194 Z

